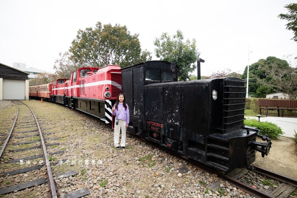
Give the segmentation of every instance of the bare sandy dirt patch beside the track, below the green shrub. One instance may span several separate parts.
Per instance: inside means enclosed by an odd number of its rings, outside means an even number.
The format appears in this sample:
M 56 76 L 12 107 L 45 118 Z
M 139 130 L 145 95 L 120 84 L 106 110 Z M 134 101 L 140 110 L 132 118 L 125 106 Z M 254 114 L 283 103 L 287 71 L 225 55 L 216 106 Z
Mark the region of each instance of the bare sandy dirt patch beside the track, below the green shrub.
M 283 137 L 272 140 L 270 153 L 262 158 L 257 152 L 256 166 L 297 179 L 297 149 L 292 138 Z

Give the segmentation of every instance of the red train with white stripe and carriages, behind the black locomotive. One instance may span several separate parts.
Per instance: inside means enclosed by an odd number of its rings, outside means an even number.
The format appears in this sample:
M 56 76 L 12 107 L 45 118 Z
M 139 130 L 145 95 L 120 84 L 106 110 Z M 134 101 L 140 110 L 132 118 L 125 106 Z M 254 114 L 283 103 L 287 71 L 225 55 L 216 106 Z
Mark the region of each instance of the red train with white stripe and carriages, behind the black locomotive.
M 30 86 L 29 96 L 58 102 L 112 123 L 112 105 L 121 93 L 120 69 L 119 65 L 83 67 L 70 79 Z

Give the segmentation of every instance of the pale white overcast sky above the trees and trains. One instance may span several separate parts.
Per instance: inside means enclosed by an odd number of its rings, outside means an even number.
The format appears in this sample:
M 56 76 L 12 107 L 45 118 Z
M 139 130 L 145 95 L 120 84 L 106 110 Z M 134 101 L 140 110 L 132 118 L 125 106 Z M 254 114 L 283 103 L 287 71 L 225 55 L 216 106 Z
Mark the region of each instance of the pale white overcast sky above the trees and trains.
M 297 43 L 287 21 L 287 0 L 249 1 L 0 1 L 0 63 L 26 63 L 54 72 L 59 52 L 69 49 L 79 29 L 102 24 L 126 25 L 139 34 L 142 50 L 154 56 L 154 39 L 180 29 L 185 39 L 196 39 L 201 75 L 244 70 L 268 56 L 297 56 Z M 197 74 L 196 74 L 197 75 Z

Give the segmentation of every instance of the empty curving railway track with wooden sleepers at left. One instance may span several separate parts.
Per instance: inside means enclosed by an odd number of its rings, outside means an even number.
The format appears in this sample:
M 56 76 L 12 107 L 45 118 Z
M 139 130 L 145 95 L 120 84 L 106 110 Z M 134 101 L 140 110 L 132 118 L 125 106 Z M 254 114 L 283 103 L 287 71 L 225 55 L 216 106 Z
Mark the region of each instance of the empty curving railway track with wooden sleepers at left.
M 0 140 L 2 145 L 0 194 L 17 191 L 24 194 L 30 191 L 28 190 L 30 187 L 47 183 L 48 186 L 42 193 L 56 198 L 55 183 L 45 145 L 47 139 L 43 138 L 45 134 L 42 134 L 37 118 L 28 105 L 20 101 L 12 102 L 17 107 L 15 120 L 10 132 L 6 134 L 7 138 Z M 1 134 L 1 137 L 3 136 Z M 34 146 L 27 147 L 26 145 Z M 31 152 L 33 149 L 34 152 Z M 3 187 L 4 184 L 12 186 Z

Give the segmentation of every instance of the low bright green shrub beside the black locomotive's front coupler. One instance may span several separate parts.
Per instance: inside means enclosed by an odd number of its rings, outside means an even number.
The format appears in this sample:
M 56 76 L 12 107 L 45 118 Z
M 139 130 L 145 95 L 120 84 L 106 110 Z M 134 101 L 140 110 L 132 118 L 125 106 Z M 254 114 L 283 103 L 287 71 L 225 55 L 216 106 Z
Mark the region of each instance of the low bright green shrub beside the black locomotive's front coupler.
M 259 122 L 256 119 L 244 120 L 244 125 L 257 127 L 261 130 L 260 134 L 267 134 L 271 139 L 275 139 L 282 134 L 285 134 L 282 129 L 271 122 Z

